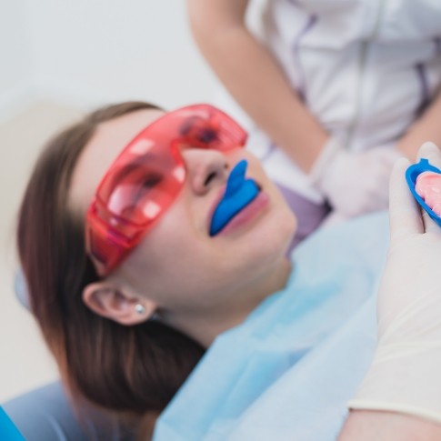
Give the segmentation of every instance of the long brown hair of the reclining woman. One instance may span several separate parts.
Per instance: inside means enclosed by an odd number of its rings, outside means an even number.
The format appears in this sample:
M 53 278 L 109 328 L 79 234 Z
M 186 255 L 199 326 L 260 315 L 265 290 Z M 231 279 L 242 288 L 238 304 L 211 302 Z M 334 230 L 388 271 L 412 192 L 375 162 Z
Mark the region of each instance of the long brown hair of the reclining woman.
M 115 411 L 161 411 L 204 348 L 158 322 L 122 326 L 95 315 L 83 288 L 99 279 L 84 245 L 84 223 L 67 195 L 78 156 L 105 121 L 142 109 L 109 105 L 50 141 L 35 165 L 19 212 L 18 252 L 30 303 L 71 393 Z

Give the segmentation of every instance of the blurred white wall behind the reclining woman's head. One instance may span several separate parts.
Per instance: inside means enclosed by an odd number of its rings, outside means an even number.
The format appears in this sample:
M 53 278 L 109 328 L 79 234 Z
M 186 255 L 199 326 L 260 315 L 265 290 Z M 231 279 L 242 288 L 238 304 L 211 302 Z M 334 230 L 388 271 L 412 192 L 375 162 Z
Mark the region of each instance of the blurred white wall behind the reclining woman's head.
M 12 0 L 11 0 L 12 1 Z M 215 77 L 188 29 L 184 0 L 23 0 L 36 84 L 74 104 L 209 100 Z

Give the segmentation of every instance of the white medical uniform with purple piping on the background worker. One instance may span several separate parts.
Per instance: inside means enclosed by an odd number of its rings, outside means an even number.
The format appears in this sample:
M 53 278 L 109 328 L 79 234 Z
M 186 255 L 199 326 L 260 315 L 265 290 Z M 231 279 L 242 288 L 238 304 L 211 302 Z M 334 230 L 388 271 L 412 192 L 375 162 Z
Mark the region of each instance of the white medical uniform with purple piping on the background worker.
M 269 0 L 263 37 L 320 124 L 360 151 L 394 145 L 436 94 L 440 24 L 440 0 Z M 249 148 L 276 183 L 323 202 L 282 151 L 251 132 Z

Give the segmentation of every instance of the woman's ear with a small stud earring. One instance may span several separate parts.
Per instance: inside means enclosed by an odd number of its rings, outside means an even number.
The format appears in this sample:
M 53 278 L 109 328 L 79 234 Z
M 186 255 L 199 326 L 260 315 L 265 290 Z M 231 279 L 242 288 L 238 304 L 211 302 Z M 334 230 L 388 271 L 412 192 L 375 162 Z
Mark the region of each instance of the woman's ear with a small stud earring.
M 155 302 L 115 288 L 105 281 L 85 286 L 83 302 L 98 316 L 110 318 L 125 326 L 145 322 L 155 314 L 156 309 Z M 143 306 L 143 312 L 138 312 L 138 305 Z

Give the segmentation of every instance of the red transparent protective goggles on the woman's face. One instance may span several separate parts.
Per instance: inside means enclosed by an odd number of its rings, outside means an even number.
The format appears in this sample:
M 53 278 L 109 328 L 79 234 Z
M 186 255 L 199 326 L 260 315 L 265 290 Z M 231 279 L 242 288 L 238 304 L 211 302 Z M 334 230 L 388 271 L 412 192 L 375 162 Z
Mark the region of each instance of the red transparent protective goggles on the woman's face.
M 108 275 L 173 204 L 185 183 L 181 148 L 228 152 L 246 132 L 212 105 L 189 105 L 156 119 L 135 136 L 98 185 L 85 222 L 85 247 Z

